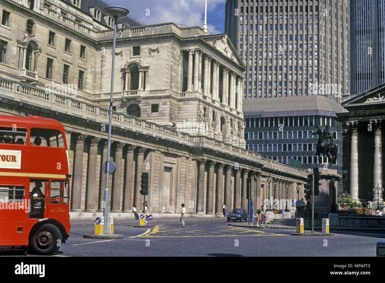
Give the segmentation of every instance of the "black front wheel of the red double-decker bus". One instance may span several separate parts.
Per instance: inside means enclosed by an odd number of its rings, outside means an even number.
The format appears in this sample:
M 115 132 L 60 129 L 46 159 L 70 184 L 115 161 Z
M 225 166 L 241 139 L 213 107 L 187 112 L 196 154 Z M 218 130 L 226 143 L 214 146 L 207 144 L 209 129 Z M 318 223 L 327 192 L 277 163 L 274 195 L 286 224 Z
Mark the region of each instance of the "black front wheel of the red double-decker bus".
M 62 234 L 53 224 L 41 226 L 30 240 L 30 248 L 39 255 L 52 255 L 60 248 Z

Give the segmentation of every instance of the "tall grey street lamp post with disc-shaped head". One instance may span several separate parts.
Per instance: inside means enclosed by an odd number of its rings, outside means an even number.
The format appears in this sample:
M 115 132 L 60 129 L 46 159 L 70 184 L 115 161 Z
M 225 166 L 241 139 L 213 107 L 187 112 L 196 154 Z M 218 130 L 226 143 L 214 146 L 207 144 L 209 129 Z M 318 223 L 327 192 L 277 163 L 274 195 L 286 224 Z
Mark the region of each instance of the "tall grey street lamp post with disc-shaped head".
M 114 102 L 114 67 L 115 67 L 115 44 L 116 44 L 116 27 L 117 27 L 117 19 L 126 17 L 129 13 L 129 10 L 119 6 L 108 6 L 103 9 L 104 13 L 110 17 L 114 18 L 114 40 L 112 43 L 112 64 L 111 64 L 111 93 L 110 93 L 110 111 L 109 111 L 109 124 L 108 124 L 108 149 L 107 149 L 107 164 L 106 164 L 106 178 L 105 178 L 105 190 L 104 190 L 104 208 L 103 208 L 103 216 L 104 216 L 104 235 L 107 234 L 107 215 L 108 215 L 108 177 L 110 173 L 110 151 L 111 151 L 111 124 L 112 124 L 112 103 Z

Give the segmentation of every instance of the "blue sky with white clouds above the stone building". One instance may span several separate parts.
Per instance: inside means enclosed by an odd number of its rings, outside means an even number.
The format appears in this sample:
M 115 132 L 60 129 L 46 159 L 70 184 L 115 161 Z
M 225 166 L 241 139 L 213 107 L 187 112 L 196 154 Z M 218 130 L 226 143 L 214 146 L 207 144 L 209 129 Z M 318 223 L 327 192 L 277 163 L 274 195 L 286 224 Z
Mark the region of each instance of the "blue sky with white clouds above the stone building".
M 174 22 L 187 27 L 197 25 L 203 27 L 204 0 L 109 0 L 109 2 L 127 8 L 131 16 L 146 25 Z M 226 0 L 207 1 L 209 33 L 224 33 L 225 2 Z

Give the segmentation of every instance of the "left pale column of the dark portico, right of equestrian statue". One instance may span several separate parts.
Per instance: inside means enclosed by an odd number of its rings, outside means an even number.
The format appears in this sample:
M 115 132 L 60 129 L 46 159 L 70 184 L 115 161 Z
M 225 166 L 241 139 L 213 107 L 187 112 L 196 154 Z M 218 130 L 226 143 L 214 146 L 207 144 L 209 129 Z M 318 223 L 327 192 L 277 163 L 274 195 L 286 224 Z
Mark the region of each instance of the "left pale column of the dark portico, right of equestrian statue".
M 358 199 L 358 122 L 347 122 L 352 132 L 352 141 L 350 145 L 350 195 L 353 201 Z

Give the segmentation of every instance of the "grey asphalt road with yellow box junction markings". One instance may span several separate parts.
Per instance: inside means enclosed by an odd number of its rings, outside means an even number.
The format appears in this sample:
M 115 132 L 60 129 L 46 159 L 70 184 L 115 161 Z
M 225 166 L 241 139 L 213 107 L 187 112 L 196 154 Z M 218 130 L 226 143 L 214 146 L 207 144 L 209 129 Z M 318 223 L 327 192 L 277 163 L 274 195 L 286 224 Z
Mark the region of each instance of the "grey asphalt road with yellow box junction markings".
M 179 222 L 163 222 L 154 223 L 151 230 L 115 224 L 115 233 L 125 236 L 116 240 L 83 238 L 94 226 L 72 225 L 69 240 L 53 256 L 375 256 L 377 241 L 385 238 L 380 231 L 338 231 L 335 236 L 308 237 L 292 236 L 294 230 L 227 224 L 186 221 L 182 228 Z M 2 256 L 23 254 L 20 249 L 0 251 Z

